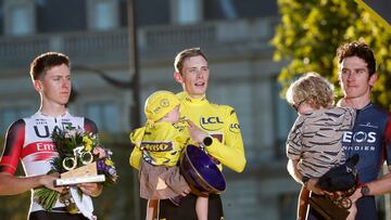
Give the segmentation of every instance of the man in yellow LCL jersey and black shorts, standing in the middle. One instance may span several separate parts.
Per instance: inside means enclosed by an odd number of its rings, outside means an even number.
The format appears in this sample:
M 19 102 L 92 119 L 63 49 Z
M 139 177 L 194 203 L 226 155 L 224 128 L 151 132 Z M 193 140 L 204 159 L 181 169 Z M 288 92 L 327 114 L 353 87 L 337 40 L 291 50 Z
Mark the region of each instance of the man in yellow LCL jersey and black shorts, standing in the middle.
M 174 78 L 182 85 L 180 116 L 189 119 L 189 133 L 195 143 L 202 143 L 207 154 L 216 158 L 220 166 L 241 172 L 245 166 L 243 141 L 235 109 L 227 105 L 212 104 L 206 100 L 210 70 L 207 59 L 199 48 L 179 52 L 174 62 Z M 169 200 L 160 202 L 159 219 L 195 220 L 197 196 L 189 194 L 181 206 L 173 206 Z M 209 220 L 224 219 L 219 195 L 210 194 Z

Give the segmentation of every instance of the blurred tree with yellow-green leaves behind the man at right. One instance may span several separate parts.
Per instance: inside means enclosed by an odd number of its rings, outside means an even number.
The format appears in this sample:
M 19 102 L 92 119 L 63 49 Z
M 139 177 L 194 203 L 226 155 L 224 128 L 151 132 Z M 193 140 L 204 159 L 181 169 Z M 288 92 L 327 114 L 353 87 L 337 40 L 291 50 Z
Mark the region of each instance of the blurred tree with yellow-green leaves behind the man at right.
M 272 43 L 277 49 L 275 61 L 290 61 L 278 76 L 283 91 L 293 78 L 311 70 L 338 85 L 337 48 L 348 41 L 364 41 L 375 52 L 379 73 L 373 101 L 391 109 L 389 24 L 353 0 L 278 0 L 278 7 L 281 22 Z

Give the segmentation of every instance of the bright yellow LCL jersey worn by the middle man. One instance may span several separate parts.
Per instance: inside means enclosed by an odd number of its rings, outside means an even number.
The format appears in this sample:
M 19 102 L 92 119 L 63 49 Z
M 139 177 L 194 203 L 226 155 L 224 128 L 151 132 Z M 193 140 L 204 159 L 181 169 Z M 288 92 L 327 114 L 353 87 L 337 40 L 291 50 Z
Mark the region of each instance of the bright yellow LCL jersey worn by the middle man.
M 216 158 L 229 169 L 241 172 L 245 167 L 245 156 L 240 126 L 235 109 L 228 105 L 210 103 L 205 96 L 200 99 L 190 98 L 186 92 L 177 94 L 180 100 L 181 119 L 190 119 L 198 127 L 213 137 L 213 142 L 205 150 L 207 154 Z M 133 151 L 129 163 L 133 167 L 139 167 L 141 152 Z

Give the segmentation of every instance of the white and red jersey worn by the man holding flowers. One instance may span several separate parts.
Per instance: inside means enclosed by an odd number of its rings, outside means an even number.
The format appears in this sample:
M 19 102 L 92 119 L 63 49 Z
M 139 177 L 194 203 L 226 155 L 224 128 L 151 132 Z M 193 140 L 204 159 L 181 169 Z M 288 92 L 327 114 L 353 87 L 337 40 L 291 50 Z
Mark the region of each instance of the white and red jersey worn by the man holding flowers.
M 97 132 L 97 127 L 91 120 L 74 117 L 67 112 L 60 117 L 46 116 L 37 112 L 28 118 L 13 122 L 5 135 L 0 172 L 13 174 L 21 159 L 26 177 L 46 174 L 51 169 L 51 158 L 58 156 L 51 134 L 55 127 L 62 129 L 68 126 Z M 31 200 L 30 211 L 43 210 L 34 199 Z M 54 207 L 63 206 L 56 202 Z

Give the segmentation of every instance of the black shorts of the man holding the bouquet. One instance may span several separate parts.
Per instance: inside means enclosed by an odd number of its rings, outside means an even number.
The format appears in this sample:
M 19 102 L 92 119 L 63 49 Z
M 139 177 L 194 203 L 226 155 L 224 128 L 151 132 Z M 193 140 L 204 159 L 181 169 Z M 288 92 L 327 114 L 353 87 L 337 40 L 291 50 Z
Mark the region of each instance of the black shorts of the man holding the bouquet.
M 55 208 L 54 208 L 55 209 Z M 85 216 L 81 213 L 68 213 L 66 211 L 33 211 L 28 215 L 28 220 L 88 220 Z

